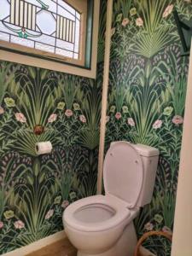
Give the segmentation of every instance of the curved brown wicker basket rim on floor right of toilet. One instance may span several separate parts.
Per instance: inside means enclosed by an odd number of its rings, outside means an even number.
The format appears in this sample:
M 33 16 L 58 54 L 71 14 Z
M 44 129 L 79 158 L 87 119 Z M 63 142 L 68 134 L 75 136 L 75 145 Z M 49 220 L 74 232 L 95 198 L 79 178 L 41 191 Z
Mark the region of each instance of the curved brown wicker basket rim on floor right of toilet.
M 146 255 L 143 255 L 143 253 L 140 252 L 140 247 L 143 244 L 143 241 L 145 241 L 149 236 L 164 236 L 167 239 L 169 239 L 170 241 L 172 241 L 172 235 L 171 234 L 168 234 L 168 233 L 163 232 L 163 231 L 149 231 L 147 233 L 144 233 L 143 236 L 138 240 L 134 256 L 146 256 Z

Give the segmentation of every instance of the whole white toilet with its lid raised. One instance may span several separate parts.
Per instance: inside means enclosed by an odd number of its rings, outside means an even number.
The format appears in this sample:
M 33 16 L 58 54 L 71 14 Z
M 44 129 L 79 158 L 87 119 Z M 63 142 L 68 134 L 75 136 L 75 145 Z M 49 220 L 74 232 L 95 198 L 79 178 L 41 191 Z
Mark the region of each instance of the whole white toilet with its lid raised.
M 133 256 L 133 220 L 152 199 L 158 159 L 157 148 L 111 143 L 103 166 L 105 195 L 75 201 L 63 213 L 65 232 L 78 256 Z

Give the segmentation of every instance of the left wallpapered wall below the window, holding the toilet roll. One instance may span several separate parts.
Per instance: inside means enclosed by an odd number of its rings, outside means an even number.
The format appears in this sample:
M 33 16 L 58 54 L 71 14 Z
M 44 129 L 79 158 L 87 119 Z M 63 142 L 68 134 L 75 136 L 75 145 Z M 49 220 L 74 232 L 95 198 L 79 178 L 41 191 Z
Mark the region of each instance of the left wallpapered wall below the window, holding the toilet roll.
M 61 230 L 67 205 L 96 194 L 101 88 L 0 63 L 0 254 Z M 53 151 L 38 157 L 42 141 Z

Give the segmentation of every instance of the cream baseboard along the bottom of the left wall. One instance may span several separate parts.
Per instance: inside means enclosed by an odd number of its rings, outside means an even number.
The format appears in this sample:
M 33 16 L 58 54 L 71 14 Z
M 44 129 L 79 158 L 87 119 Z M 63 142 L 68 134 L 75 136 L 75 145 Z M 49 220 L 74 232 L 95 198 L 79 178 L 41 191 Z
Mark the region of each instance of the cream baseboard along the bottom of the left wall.
M 46 247 L 50 243 L 53 243 L 55 241 L 60 241 L 61 239 L 65 238 L 65 237 L 66 237 L 65 231 L 62 230 L 60 232 L 55 233 L 54 235 L 47 236 L 38 241 L 34 241 L 25 247 L 20 247 L 12 252 L 4 253 L 4 254 L 2 254 L 2 256 L 26 256 L 26 254 L 28 254 L 28 253 L 37 251 L 38 249 L 40 249 L 42 247 Z

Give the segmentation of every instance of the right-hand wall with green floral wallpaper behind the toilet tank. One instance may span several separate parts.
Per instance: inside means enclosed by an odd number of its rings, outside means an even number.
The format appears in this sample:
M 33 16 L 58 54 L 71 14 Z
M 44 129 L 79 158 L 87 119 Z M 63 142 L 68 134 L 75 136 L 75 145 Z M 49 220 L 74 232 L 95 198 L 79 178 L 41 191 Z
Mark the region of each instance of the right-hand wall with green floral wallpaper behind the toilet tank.
M 183 20 L 192 18 L 190 1 L 113 3 L 106 148 L 126 140 L 160 149 L 153 200 L 135 221 L 138 236 L 148 230 L 172 233 L 189 70 L 173 8 Z M 160 236 L 146 246 L 158 255 L 171 251 Z

